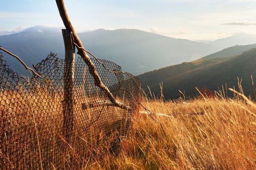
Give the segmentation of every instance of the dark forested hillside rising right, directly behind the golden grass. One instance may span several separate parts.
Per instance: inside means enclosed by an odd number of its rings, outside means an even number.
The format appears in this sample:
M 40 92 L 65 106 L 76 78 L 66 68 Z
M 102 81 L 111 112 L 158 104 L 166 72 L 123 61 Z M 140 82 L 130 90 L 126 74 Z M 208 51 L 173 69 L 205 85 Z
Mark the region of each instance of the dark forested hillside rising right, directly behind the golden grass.
M 177 71 L 175 72 L 176 74 L 168 74 L 174 72 L 171 69 L 175 67 L 180 67 L 180 70 L 186 70 L 186 65 L 193 65 L 197 62 L 207 63 L 210 61 L 213 61 L 213 63 L 204 64 L 202 67 L 195 67 L 190 70 L 188 69 L 188 71 Z M 162 70 L 164 71 L 162 72 L 153 71 L 141 74 L 139 78 L 141 79 L 142 88 L 145 89 L 146 93 L 148 93 L 148 85 L 152 93 L 155 95 L 159 94 L 159 83 L 163 82 L 163 94 L 165 98 L 176 98 L 178 89 L 185 92 L 185 94 L 190 97 L 198 94 L 195 87 L 218 91 L 218 87 L 222 89 L 222 85 L 225 87 L 225 83 L 227 83 L 227 87 L 233 88 L 235 85 L 236 89 L 238 89 L 238 77 L 243 79 L 242 85 L 245 87 L 244 93 L 254 96 L 251 75 L 256 80 L 255 65 L 256 48 L 253 48 L 236 57 L 183 63 L 182 65 L 163 68 Z M 155 77 L 161 78 L 155 80 Z M 231 93 L 229 93 L 229 95 L 231 95 Z

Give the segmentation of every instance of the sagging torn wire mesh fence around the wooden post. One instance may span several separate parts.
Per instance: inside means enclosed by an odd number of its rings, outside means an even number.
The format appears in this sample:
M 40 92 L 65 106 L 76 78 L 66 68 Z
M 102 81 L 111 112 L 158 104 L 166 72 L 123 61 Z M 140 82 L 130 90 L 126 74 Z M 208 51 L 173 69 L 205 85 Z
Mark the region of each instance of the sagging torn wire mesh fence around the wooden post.
M 70 66 L 51 53 L 35 66 L 41 77 L 23 78 L 0 52 L 1 169 L 81 168 L 101 151 L 119 154 L 138 110 L 140 81 L 113 62 L 100 60 L 103 67 L 92 61 L 101 81 L 129 109 L 112 105 L 81 58 Z M 65 67 L 73 67 L 71 79 Z

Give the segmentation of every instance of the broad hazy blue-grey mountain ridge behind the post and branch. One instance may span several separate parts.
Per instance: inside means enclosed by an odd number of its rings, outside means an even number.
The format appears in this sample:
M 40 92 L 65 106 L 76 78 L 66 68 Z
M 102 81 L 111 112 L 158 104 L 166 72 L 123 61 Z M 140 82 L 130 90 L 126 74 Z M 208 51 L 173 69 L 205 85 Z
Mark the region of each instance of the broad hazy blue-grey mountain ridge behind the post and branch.
M 216 47 L 209 44 L 135 29 L 99 29 L 78 35 L 83 46 L 96 57 L 113 61 L 124 71 L 135 75 L 184 61 L 193 61 L 216 52 Z M 0 36 L 0 46 L 18 55 L 29 67 L 45 59 L 51 51 L 57 53 L 59 58 L 64 57 L 61 30 L 42 26 Z M 27 74 L 16 59 L 8 59 L 14 70 Z

